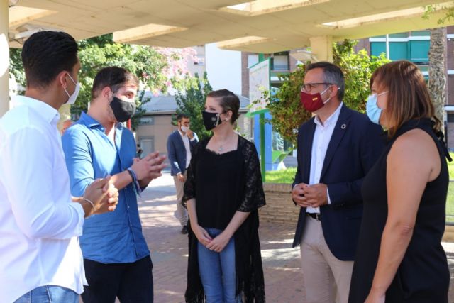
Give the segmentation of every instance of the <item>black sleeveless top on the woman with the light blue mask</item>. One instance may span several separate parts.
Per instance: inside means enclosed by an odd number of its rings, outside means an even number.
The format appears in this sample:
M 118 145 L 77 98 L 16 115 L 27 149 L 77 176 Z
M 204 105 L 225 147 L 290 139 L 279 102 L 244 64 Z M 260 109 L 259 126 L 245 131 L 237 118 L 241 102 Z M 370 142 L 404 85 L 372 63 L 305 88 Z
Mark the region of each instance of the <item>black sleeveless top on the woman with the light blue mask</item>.
M 449 158 L 449 155 L 445 145 L 433 131 L 431 119 L 419 119 L 408 121 L 399 128 L 362 183 L 364 212 L 349 303 L 363 303 L 372 287 L 382 233 L 387 221 L 387 155 L 397 137 L 414 128 L 426 131 L 435 141 L 440 154 L 441 172 L 435 180 L 426 184 L 416 214 L 413 236 L 386 292 L 386 302 L 448 302 L 450 275 L 441 238 L 445 231 L 449 182 L 445 157 Z M 411 187 L 411 180 L 408 180 L 408 187 Z

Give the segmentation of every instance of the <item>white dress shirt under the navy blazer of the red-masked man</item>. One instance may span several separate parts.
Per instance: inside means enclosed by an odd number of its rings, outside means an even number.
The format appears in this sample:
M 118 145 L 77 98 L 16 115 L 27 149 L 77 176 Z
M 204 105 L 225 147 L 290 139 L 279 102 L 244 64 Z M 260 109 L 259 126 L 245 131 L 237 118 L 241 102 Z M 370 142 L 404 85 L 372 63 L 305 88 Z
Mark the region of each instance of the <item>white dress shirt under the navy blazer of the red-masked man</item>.
M 329 116 L 328 119 L 322 124 L 319 116 L 316 116 L 314 123 L 316 123 L 314 139 L 312 141 L 312 152 L 311 152 L 311 174 L 309 177 L 309 185 L 317 184 L 320 182 L 321 169 L 323 168 L 323 162 L 325 162 L 326 150 L 328 150 L 331 136 L 333 136 L 334 127 L 341 114 L 341 103 L 336 111 Z M 326 195 L 328 197 L 328 204 L 331 204 L 329 199 L 328 189 L 326 189 Z M 320 207 L 307 207 L 306 212 L 320 214 Z

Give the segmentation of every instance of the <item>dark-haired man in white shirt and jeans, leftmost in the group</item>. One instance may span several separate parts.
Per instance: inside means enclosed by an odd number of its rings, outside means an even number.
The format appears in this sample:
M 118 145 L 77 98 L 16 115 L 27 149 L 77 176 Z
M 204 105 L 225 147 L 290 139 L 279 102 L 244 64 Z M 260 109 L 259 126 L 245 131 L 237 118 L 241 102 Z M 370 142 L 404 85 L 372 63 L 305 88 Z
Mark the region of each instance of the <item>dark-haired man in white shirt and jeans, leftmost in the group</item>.
M 0 302 L 79 302 L 86 284 L 84 218 L 114 211 L 109 177 L 72 198 L 57 122 L 79 91 L 77 43 L 62 32 L 31 35 L 22 50 L 25 96 L 0 119 Z

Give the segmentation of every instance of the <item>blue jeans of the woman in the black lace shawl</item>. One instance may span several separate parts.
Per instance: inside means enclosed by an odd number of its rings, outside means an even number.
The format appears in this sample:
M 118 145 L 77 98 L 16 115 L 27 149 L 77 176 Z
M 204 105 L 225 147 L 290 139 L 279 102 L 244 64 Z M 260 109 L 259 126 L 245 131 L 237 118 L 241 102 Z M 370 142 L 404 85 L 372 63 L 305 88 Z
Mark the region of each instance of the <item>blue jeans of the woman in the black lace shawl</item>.
M 211 238 L 222 231 L 216 228 L 205 228 Z M 206 303 L 241 302 L 236 294 L 235 241 L 228 241 L 221 253 L 211 251 L 198 243 L 199 272 L 204 285 Z

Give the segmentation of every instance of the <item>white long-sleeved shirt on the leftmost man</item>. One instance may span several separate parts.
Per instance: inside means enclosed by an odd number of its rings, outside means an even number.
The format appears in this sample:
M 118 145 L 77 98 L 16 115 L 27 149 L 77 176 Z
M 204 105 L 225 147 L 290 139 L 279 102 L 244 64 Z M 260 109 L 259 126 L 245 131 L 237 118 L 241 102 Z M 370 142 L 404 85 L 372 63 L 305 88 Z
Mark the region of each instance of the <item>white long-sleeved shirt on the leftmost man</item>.
M 43 285 L 82 293 L 78 236 L 84 210 L 71 202 L 58 111 L 18 96 L 0 119 L 0 302 Z

